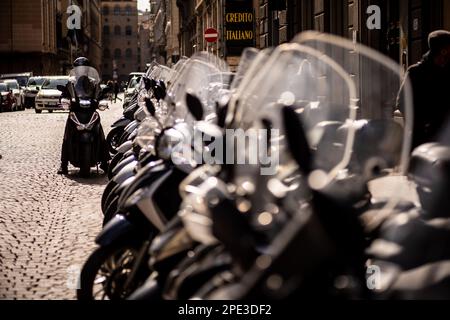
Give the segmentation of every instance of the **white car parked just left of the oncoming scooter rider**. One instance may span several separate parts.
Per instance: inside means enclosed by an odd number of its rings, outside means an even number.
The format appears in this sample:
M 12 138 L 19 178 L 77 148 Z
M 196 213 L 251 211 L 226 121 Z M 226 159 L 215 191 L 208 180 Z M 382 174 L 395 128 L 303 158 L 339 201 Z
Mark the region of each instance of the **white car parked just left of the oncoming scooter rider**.
M 36 113 L 42 113 L 42 110 L 48 110 L 50 113 L 54 110 L 64 110 L 59 102 L 62 92 L 57 87 L 66 86 L 68 82 L 68 76 L 47 77 L 41 90 L 36 95 Z

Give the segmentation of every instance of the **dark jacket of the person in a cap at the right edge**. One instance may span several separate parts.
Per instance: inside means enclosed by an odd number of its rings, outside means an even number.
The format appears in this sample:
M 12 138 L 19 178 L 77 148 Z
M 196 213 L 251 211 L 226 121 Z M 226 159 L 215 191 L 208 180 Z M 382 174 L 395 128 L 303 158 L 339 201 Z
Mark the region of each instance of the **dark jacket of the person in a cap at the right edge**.
M 436 66 L 429 54 L 408 69 L 414 102 L 413 148 L 434 142 L 450 115 L 450 67 Z

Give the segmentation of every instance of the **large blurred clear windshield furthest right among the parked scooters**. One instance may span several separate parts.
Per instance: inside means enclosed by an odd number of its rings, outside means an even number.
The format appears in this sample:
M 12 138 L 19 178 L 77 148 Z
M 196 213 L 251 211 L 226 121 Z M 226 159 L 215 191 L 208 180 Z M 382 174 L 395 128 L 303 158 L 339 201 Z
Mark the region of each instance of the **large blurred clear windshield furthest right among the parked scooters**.
M 330 76 L 320 65 L 311 65 L 312 76 L 320 79 L 317 84 L 325 83 L 332 96 L 316 90 L 313 100 L 318 112 L 311 107 L 299 110 L 316 151 L 316 171 L 310 182 L 320 187 L 341 175 L 358 174 L 363 181 L 371 181 L 388 174 L 405 174 L 413 109 L 411 85 L 401 66 L 375 50 L 332 35 L 306 32 L 293 42 L 331 58 L 352 80 L 343 81 L 344 76 L 336 74 L 337 68 Z M 395 116 L 396 110 L 402 111 L 401 116 Z M 328 134 L 326 126 L 317 126 L 319 121 L 343 125 Z

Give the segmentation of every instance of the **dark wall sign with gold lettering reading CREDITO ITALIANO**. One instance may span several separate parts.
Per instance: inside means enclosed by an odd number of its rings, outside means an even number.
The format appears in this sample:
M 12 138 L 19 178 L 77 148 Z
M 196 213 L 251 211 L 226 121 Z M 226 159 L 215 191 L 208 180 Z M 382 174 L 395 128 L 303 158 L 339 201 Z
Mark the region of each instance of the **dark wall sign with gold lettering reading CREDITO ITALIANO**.
M 255 14 L 251 0 L 226 0 L 225 43 L 228 56 L 239 56 L 255 45 Z

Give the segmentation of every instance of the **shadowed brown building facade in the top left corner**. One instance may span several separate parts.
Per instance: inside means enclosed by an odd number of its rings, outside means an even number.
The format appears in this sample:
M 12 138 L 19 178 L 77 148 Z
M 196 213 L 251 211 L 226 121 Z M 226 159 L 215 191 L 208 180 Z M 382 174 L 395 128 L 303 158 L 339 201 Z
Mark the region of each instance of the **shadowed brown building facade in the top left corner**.
M 66 23 L 71 4 L 81 9 L 76 37 Z M 1 8 L 0 73 L 67 74 L 79 55 L 100 65 L 100 0 L 5 0 Z

